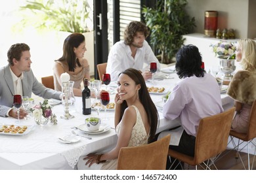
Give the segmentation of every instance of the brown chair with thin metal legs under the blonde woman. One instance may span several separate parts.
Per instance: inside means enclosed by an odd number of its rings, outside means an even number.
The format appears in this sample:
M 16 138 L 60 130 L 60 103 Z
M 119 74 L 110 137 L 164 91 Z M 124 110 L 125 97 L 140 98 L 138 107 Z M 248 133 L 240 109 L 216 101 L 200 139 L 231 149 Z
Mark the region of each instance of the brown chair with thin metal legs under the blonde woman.
M 236 144 L 235 138 L 238 139 L 238 142 Z M 247 161 L 248 161 L 248 170 L 250 169 L 250 154 L 249 154 L 249 145 L 255 146 L 254 154 L 253 154 L 253 161 L 251 164 L 251 169 L 253 169 L 253 162 L 255 159 L 255 151 L 256 151 L 256 142 L 253 141 L 253 139 L 256 137 L 256 101 L 253 102 L 253 105 L 251 107 L 251 112 L 249 116 L 249 127 L 247 133 L 238 133 L 236 131 L 230 130 L 230 138 L 231 142 L 234 145 L 234 150 L 237 152 L 237 156 L 239 156 L 240 160 L 242 161 L 242 164 L 245 169 L 244 161 L 242 160 L 240 156 L 240 152 L 247 146 Z M 242 144 L 244 143 L 245 144 Z M 242 148 L 239 150 L 239 147 L 242 145 Z

